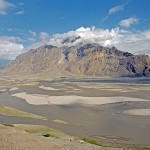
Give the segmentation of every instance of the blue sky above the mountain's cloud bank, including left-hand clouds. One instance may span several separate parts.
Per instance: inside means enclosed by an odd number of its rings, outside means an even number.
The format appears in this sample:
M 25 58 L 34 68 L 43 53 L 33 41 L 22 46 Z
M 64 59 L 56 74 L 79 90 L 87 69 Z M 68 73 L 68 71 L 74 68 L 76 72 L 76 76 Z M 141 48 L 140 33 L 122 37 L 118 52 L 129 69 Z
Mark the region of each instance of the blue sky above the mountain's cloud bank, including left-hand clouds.
M 53 34 L 92 26 L 99 34 L 99 29 L 115 28 L 134 38 L 144 34 L 147 41 L 150 0 L 0 0 L 0 58 L 14 58 Z

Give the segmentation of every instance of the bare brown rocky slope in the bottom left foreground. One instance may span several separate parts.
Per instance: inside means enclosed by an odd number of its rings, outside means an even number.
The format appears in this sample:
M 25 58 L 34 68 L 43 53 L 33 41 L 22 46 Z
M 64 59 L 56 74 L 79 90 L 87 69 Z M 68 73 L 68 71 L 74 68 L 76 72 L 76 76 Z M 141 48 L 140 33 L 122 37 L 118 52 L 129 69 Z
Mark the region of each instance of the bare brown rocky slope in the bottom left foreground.
M 55 139 L 0 125 L 0 150 L 121 150 L 82 143 L 74 138 Z

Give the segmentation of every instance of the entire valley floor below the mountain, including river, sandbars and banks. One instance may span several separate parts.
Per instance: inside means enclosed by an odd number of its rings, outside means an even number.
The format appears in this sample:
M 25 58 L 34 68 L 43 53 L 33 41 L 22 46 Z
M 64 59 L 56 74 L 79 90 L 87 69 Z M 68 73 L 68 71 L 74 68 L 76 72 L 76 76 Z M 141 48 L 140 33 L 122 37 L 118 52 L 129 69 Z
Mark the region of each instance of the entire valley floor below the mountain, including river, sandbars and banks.
M 0 125 L 0 149 L 150 147 L 148 80 L 83 80 L 0 79 L 0 124 L 3 124 Z M 29 124 L 36 126 L 29 128 Z M 63 133 L 67 138 L 43 137 L 49 134 L 59 137 Z M 85 142 L 81 144 L 73 137 Z

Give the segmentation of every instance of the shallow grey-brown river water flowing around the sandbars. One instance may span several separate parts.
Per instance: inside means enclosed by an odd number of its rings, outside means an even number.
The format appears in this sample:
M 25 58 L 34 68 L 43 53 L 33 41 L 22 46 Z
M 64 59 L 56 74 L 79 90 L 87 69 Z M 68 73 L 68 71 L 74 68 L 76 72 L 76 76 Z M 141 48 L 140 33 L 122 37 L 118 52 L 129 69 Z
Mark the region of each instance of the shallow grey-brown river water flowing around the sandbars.
M 66 82 L 66 81 L 65 81 Z M 86 81 L 87 82 L 87 81 Z M 143 82 L 143 81 L 142 81 Z M 33 114 L 47 117 L 49 120 L 64 120 L 73 125 L 63 125 L 52 123 L 50 121 L 44 121 L 39 119 L 7 117 L 0 115 L 0 122 L 10 124 L 37 124 L 45 125 L 54 129 L 61 130 L 69 135 L 77 137 L 87 137 L 98 142 L 103 143 L 119 143 L 119 144 L 137 144 L 137 145 L 150 145 L 150 117 L 149 116 L 131 116 L 123 114 L 124 110 L 150 108 L 150 101 L 148 102 L 120 102 L 114 104 L 107 104 L 101 106 L 55 106 L 55 105 L 41 105 L 35 106 L 26 103 L 17 97 L 12 97 L 11 94 L 17 92 L 28 92 L 31 94 L 45 94 L 45 95 L 71 95 L 75 93 L 63 91 L 63 88 L 74 87 L 72 83 L 62 83 L 60 85 L 42 81 L 40 85 L 46 84 L 47 86 L 53 86 L 59 88 L 59 91 L 46 91 L 41 90 L 38 86 L 24 86 L 19 87 L 18 91 L 2 92 L 0 93 L 0 104 L 16 108 L 22 111 L 30 112 Z M 124 86 L 124 85 L 120 85 Z M 128 85 L 126 85 L 128 86 Z M 144 99 L 150 98 L 149 91 L 142 91 L 141 85 L 137 85 L 141 88 L 135 92 L 114 92 L 114 91 L 99 91 L 95 89 L 84 89 L 78 95 L 83 96 L 125 96 L 128 97 L 140 97 Z M 61 88 L 60 88 L 61 87 Z M 74 87 L 77 88 L 77 87 Z M 79 87 L 78 87 L 79 88 Z M 68 89 L 67 89 L 68 90 Z M 142 96 L 141 94 L 144 93 Z M 113 137 L 113 138 L 112 138 Z M 106 138 L 106 139 L 105 139 Z M 117 139 L 117 140 L 116 140 Z

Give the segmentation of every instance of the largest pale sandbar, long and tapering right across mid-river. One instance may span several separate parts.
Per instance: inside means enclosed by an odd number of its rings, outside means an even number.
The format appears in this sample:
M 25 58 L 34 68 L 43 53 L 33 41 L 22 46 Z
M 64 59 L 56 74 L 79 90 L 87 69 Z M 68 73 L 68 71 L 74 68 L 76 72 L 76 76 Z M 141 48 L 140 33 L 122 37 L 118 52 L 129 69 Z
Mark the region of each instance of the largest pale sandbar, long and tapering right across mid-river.
M 131 97 L 83 97 L 76 95 L 69 96 L 49 96 L 40 94 L 27 94 L 26 92 L 16 93 L 12 96 L 22 98 L 27 103 L 32 105 L 72 105 L 72 104 L 83 104 L 83 105 L 103 105 L 117 102 L 127 101 L 149 101 L 145 99 L 131 98 Z

